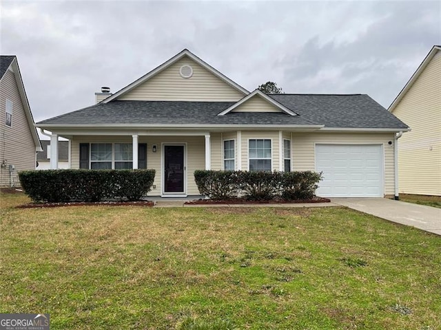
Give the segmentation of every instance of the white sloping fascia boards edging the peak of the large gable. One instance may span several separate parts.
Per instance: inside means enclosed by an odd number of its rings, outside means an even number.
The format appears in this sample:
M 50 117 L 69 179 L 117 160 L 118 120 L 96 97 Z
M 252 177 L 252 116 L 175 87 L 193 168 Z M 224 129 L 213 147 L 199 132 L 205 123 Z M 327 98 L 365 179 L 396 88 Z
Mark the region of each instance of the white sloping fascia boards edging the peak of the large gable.
M 135 87 L 138 87 L 142 83 L 145 83 L 145 81 L 149 80 L 153 76 L 156 76 L 156 74 L 158 74 L 159 72 L 162 72 L 164 69 L 167 69 L 167 67 L 170 67 L 170 65 L 172 65 L 173 63 L 179 61 L 184 56 L 188 56 L 193 61 L 198 63 L 198 65 L 201 65 L 202 67 L 207 69 L 209 72 L 214 74 L 214 76 L 217 76 L 221 80 L 225 81 L 225 83 L 227 83 L 228 85 L 231 85 L 235 89 L 238 89 L 238 91 L 242 92 L 244 95 L 249 94 L 249 91 L 247 91 L 245 88 L 241 87 L 240 85 L 234 83 L 234 81 L 229 79 L 227 76 L 225 76 L 225 75 L 221 74 L 220 72 L 218 72 L 218 70 L 214 69 L 214 67 L 212 67 L 211 65 L 208 65 L 207 63 L 202 61 L 201 58 L 198 58 L 198 56 L 194 55 L 189 50 L 183 50 L 182 52 L 180 52 L 180 53 L 176 54 L 175 56 L 173 56 L 172 58 L 170 58 L 170 60 L 165 61 L 163 64 L 159 65 L 158 67 L 156 67 L 152 71 L 148 72 L 147 74 L 145 74 L 141 78 L 136 79 L 130 85 L 127 85 L 123 89 L 120 89 L 115 94 L 112 94 L 112 96 L 109 96 L 108 98 L 105 98 L 105 100 L 102 100 L 101 102 L 102 103 L 107 103 L 107 102 L 110 102 L 110 101 L 114 100 L 115 98 L 118 98 L 119 96 L 122 96 L 123 94 L 125 94 L 128 91 L 134 89 Z

